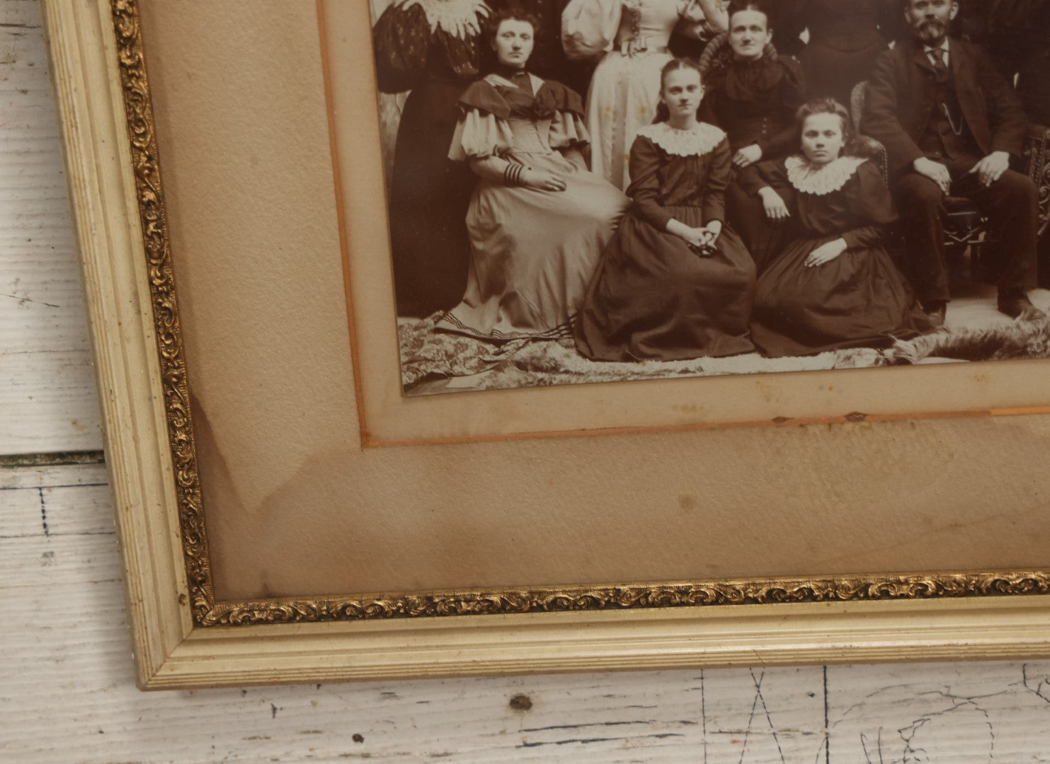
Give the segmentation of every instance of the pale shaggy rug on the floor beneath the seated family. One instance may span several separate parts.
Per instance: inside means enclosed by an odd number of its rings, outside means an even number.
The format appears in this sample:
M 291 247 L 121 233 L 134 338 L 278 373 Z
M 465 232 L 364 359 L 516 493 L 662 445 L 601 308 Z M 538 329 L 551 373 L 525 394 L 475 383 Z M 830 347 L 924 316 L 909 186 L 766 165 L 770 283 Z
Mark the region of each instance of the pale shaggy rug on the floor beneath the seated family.
M 408 395 L 728 374 L 872 368 L 934 358 L 960 361 L 1050 358 L 1050 324 L 1046 320 L 1013 321 L 980 330 L 942 328 L 884 349 L 862 347 L 798 358 L 769 359 L 750 354 L 640 363 L 590 361 L 576 353 L 571 340 L 516 340 L 491 344 L 436 332 L 434 321 L 434 317 L 403 321 L 399 326 L 402 382 Z

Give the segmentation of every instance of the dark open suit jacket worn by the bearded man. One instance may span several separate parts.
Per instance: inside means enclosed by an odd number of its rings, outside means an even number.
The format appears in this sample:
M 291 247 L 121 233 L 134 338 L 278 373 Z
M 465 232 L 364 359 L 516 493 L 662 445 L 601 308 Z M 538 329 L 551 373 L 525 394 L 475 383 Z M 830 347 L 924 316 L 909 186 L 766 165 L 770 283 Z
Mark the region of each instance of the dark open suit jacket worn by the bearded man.
M 1020 155 L 1027 122 L 1013 88 L 999 73 L 984 48 L 952 38 L 948 65 L 963 119 L 984 155 Z M 872 68 L 861 132 L 886 147 L 895 172 L 923 156 L 919 148 L 933 109 L 933 64 L 915 38 L 879 55 Z

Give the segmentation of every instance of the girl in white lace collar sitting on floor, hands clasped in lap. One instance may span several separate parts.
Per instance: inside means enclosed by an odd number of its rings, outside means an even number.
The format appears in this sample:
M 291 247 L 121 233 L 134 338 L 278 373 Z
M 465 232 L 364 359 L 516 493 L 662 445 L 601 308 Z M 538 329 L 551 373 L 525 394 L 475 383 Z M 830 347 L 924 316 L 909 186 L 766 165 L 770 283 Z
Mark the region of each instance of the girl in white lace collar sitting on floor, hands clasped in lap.
M 633 204 L 605 250 L 576 319 L 595 360 L 733 356 L 753 351 L 748 318 L 755 267 L 723 224 L 729 142 L 698 122 L 704 89 L 691 61 L 660 72 L 658 121 L 631 147 Z M 660 119 L 662 118 L 662 119 Z

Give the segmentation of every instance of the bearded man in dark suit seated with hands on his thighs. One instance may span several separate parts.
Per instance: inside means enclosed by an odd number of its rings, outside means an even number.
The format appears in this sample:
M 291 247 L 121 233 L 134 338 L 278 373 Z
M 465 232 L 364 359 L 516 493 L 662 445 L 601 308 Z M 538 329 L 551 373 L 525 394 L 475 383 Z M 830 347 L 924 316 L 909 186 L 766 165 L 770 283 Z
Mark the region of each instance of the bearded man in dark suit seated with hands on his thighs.
M 912 35 L 876 61 L 861 131 L 886 147 L 917 296 L 942 323 L 950 295 L 941 212 L 946 195 L 964 196 L 999 240 L 999 310 L 1045 318 L 1027 294 L 1035 286 L 1036 190 L 1010 169 L 1027 131 L 1021 101 L 983 48 L 948 37 L 958 2 L 902 5 Z

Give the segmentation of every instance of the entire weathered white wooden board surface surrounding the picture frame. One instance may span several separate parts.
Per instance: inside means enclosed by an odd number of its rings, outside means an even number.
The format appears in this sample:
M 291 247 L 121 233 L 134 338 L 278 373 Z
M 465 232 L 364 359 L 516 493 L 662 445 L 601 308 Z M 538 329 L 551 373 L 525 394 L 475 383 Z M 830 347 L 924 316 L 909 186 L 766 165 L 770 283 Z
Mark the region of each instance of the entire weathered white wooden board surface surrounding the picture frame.
M 0 0 L 0 761 L 1050 762 L 1050 661 L 142 694 L 34 0 Z

